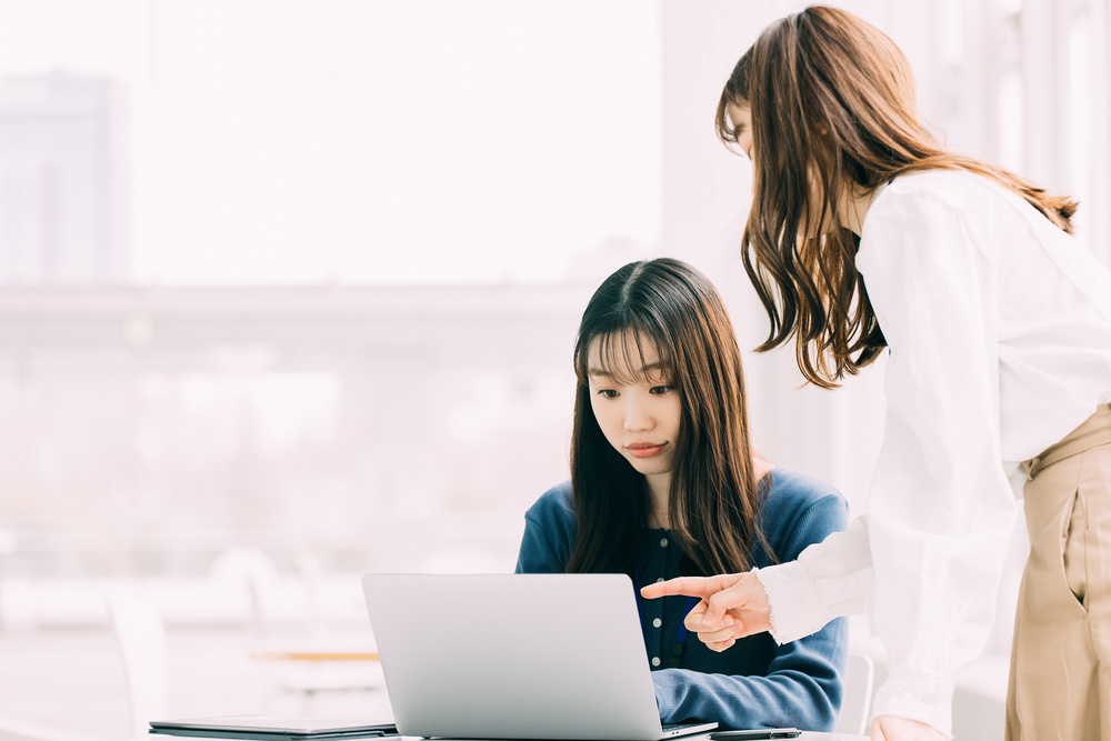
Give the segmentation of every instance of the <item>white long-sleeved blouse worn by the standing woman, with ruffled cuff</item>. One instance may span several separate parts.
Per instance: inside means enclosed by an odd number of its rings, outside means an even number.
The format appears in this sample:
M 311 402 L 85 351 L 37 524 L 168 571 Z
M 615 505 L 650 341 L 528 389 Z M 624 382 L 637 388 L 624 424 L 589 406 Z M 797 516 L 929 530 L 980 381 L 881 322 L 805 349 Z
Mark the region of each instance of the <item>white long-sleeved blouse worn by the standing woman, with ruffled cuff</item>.
M 1111 272 L 964 171 L 895 179 L 862 231 L 890 349 L 868 515 L 758 578 L 780 642 L 870 611 L 890 665 L 873 715 L 951 734 L 953 679 L 993 623 L 1008 477 L 1111 402 Z

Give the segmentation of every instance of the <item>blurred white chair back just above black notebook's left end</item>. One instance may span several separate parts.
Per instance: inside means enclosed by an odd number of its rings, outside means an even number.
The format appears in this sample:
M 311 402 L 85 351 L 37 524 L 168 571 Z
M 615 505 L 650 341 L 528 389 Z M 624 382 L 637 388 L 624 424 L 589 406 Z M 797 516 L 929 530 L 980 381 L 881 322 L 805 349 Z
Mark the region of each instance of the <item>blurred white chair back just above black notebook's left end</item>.
M 138 594 L 112 594 L 108 607 L 123 659 L 130 703 L 128 728 L 133 738 L 143 738 L 151 720 L 166 718 L 170 678 L 166 628 L 157 608 Z

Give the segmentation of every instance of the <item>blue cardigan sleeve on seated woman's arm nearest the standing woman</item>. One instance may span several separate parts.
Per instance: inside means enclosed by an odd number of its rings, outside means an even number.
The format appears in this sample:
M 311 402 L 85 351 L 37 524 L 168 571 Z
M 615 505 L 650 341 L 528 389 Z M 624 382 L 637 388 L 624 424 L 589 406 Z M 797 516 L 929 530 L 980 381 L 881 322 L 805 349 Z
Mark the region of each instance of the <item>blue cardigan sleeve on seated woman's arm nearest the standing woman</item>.
M 820 499 L 794 524 L 783 557 L 794 558 L 807 544 L 842 530 L 848 519 L 841 497 Z M 841 708 L 847 644 L 847 622 L 834 620 L 812 635 L 777 645 L 764 675 L 654 671 L 660 717 L 664 722 L 713 719 L 734 729 L 832 731 Z

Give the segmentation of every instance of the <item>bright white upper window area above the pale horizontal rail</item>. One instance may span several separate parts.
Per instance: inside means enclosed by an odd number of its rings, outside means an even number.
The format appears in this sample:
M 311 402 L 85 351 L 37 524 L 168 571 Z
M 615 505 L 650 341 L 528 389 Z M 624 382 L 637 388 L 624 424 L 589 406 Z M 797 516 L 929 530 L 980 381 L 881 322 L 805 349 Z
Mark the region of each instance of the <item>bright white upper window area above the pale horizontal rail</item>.
M 653 3 L 0 13 L 3 282 L 552 282 L 659 240 Z

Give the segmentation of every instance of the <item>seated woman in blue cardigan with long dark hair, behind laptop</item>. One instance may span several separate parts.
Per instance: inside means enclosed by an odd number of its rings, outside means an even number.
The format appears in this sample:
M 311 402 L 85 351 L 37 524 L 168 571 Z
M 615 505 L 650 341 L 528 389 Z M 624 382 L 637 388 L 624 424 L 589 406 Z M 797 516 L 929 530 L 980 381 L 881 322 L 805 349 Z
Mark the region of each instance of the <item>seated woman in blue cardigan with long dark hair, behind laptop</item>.
M 582 317 L 574 369 L 571 480 L 526 514 L 518 572 L 623 572 L 639 588 L 790 561 L 845 528 L 832 487 L 752 450 L 732 324 L 690 266 L 661 259 L 610 276 Z M 663 722 L 833 729 L 843 620 L 718 653 L 683 627 L 695 603 L 639 602 Z

